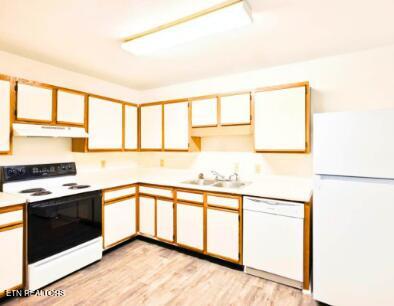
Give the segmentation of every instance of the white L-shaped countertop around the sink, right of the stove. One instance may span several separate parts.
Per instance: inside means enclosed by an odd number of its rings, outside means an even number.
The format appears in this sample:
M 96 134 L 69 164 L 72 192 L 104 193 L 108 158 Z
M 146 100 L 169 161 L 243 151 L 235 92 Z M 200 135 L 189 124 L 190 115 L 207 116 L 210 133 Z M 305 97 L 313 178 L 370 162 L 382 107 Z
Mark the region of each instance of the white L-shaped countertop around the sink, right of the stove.
M 312 196 L 312 179 L 296 176 L 260 176 L 241 188 L 220 188 L 184 184 L 196 178 L 196 173 L 162 168 L 99 170 L 78 174 L 78 182 L 106 189 L 121 185 L 146 183 L 186 189 L 223 192 L 238 195 L 309 202 Z

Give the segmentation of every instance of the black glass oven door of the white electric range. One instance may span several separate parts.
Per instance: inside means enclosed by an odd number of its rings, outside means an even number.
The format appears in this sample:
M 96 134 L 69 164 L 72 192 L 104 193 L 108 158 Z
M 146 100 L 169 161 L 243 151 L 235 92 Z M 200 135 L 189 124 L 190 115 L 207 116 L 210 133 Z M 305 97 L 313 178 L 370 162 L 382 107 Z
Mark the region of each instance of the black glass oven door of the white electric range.
M 101 236 L 101 192 L 28 205 L 29 264 Z

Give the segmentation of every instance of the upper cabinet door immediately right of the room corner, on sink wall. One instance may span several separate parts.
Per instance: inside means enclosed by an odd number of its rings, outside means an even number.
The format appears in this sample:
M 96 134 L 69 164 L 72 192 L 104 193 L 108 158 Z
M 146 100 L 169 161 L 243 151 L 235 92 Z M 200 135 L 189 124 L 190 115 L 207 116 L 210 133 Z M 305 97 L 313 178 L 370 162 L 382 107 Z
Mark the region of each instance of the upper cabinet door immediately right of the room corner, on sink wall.
M 141 107 L 141 149 L 162 148 L 162 105 Z

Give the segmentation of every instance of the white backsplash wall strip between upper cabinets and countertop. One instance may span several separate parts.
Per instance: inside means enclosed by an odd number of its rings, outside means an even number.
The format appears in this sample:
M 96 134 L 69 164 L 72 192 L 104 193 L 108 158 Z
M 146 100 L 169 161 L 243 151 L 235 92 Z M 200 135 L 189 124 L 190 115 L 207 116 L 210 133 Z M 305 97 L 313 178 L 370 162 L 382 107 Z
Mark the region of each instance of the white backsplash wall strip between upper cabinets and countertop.
M 160 167 L 185 169 L 210 175 L 216 170 L 242 179 L 260 175 L 312 175 L 311 154 L 261 154 L 253 152 L 252 136 L 204 137 L 202 152 L 73 153 L 67 138 L 14 137 L 12 155 L 0 156 L 0 165 L 75 161 L 79 172 L 105 169 Z M 220 149 L 219 149 L 220 148 Z

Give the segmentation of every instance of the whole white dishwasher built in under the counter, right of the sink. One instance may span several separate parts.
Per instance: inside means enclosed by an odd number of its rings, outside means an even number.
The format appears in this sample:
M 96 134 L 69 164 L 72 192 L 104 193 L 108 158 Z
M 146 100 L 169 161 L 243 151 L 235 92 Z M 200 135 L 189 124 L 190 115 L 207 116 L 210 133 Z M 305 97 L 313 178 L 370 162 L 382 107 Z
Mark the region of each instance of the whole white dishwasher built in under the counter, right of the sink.
M 304 204 L 244 197 L 245 272 L 302 288 Z

